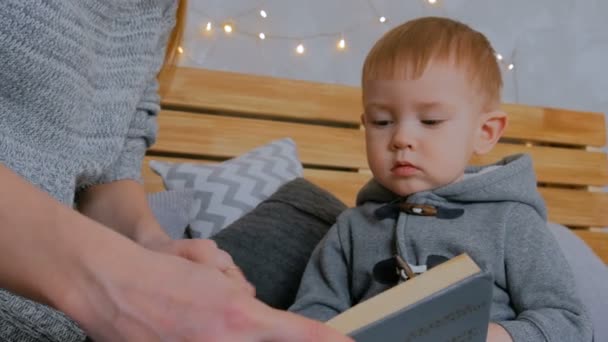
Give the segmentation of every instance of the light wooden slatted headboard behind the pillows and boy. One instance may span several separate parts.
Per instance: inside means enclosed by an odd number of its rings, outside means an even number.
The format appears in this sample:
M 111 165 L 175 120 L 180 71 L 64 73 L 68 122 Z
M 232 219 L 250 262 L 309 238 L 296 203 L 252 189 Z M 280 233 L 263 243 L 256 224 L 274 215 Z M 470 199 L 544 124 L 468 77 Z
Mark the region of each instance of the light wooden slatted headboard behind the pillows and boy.
M 143 167 L 146 190 L 163 189 L 150 159 L 218 162 L 291 137 L 305 177 L 353 205 L 371 177 L 358 87 L 177 68 L 162 81 L 157 143 Z M 493 152 L 472 164 L 532 156 L 549 220 L 575 230 L 608 263 L 608 159 L 604 115 L 504 104 L 509 126 Z

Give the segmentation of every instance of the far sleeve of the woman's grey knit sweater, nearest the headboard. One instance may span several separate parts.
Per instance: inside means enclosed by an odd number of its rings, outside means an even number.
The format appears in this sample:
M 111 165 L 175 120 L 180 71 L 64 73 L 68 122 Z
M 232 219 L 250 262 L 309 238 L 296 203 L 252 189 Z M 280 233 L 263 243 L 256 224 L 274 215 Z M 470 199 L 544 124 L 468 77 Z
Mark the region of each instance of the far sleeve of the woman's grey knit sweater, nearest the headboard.
M 104 171 L 99 180 L 100 184 L 123 179 L 142 181 L 143 158 L 146 150 L 156 141 L 158 131 L 157 115 L 160 112 L 160 96 L 156 76 L 163 65 L 168 38 L 175 25 L 176 4 L 177 1 L 173 1 L 171 6 L 164 10 L 164 27 L 159 35 L 157 48 L 154 49 L 156 55 L 150 67 L 150 79 L 135 109 L 136 112 L 129 125 L 122 152 Z

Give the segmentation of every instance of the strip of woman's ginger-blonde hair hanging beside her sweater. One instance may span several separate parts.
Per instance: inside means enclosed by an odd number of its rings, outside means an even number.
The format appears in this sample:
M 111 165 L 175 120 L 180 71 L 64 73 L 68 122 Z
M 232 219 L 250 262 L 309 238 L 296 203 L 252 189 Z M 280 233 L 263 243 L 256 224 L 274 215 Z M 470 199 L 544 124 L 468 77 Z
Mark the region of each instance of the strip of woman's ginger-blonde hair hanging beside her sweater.
M 171 83 L 173 75 L 175 74 L 175 68 L 177 65 L 178 48 L 182 42 L 184 36 L 184 30 L 186 27 L 186 9 L 188 7 L 187 0 L 177 0 L 177 13 L 175 20 L 175 27 L 171 31 L 167 48 L 165 50 L 165 60 L 163 67 L 158 73 L 158 80 L 160 83 L 159 93 L 161 97 L 166 94 L 167 86 Z

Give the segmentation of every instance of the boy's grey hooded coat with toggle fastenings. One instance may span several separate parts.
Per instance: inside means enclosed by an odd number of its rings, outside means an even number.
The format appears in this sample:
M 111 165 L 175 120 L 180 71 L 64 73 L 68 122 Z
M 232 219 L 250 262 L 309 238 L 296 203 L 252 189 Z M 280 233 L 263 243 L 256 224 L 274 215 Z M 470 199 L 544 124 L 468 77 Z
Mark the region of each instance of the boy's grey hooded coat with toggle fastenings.
M 398 201 L 430 205 L 438 214 L 392 211 L 387 203 Z M 326 321 L 388 289 L 373 269 L 395 253 L 425 265 L 431 255 L 464 252 L 492 275 L 491 320 L 514 341 L 591 340 L 591 322 L 547 229 L 527 155 L 469 167 L 462 181 L 401 199 L 370 181 L 357 207 L 338 217 L 313 252 L 290 311 Z

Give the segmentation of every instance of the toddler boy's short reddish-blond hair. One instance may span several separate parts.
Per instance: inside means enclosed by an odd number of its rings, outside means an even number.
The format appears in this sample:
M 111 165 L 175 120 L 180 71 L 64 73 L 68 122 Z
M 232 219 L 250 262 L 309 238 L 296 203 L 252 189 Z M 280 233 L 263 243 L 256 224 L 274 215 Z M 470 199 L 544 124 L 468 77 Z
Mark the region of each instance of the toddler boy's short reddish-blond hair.
M 488 39 L 463 23 L 440 17 L 408 21 L 380 38 L 363 64 L 363 89 L 369 80 L 417 79 L 431 60 L 465 68 L 483 96 L 482 106 L 500 105 L 502 76 Z

